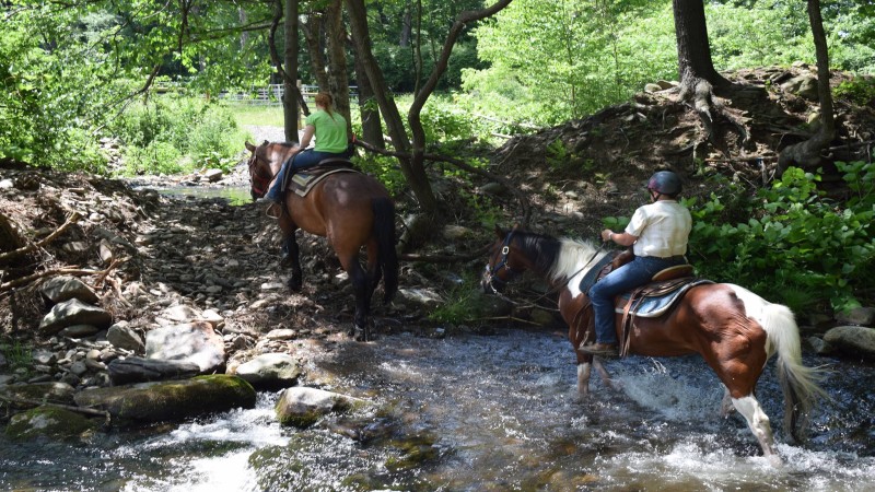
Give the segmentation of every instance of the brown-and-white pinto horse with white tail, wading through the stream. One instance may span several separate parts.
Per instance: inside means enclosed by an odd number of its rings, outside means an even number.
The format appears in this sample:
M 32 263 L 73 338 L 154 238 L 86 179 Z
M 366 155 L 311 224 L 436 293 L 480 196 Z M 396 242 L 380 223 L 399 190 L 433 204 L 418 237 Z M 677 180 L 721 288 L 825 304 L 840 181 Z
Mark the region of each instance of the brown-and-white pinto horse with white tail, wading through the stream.
M 557 239 L 524 231 L 495 229 L 498 241 L 490 253 L 482 285 L 500 291 L 512 277 L 530 270 L 559 292 L 559 312 L 569 326 L 569 340 L 578 356 L 578 390 L 590 389 L 591 364 L 609 385 L 598 358 L 576 350 L 593 330 L 592 307 L 580 283 L 608 251 L 584 242 Z M 617 315 L 617 333 L 621 336 Z M 588 339 L 593 340 L 591 332 Z M 622 340 L 622 338 L 619 338 Z M 707 283 L 689 289 L 667 313 L 655 318 L 634 317 L 629 353 L 676 356 L 699 353 L 725 387 L 721 410 L 740 412 L 773 465 L 774 452 L 769 418 L 754 390 L 766 362 L 778 353 L 778 375 L 784 393 L 784 432 L 798 438 L 818 396 L 820 370 L 802 365 L 800 333 L 793 313 L 752 292 L 730 283 Z M 797 429 L 800 427 L 800 429 Z

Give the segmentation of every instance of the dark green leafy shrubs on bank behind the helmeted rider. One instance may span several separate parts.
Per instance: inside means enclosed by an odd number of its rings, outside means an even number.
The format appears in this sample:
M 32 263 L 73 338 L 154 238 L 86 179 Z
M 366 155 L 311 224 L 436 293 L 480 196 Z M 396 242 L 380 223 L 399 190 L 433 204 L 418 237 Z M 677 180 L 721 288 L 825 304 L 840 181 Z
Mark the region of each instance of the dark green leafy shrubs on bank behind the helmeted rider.
M 819 176 L 790 168 L 771 188 L 727 210 L 721 197 L 692 206 L 690 257 L 703 277 L 743 284 L 786 304 L 858 304 L 875 286 L 875 171 L 840 164 L 858 195 L 840 206 L 817 190 Z M 724 218 L 746 215 L 746 221 Z

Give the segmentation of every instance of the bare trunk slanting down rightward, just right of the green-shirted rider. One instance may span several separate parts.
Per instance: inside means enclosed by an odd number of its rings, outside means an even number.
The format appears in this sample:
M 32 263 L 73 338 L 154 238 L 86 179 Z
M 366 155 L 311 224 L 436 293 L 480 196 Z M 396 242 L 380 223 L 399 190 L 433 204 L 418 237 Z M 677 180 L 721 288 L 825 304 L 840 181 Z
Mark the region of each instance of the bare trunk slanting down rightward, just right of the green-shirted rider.
M 386 80 L 374 59 L 374 55 L 371 52 L 371 33 L 368 27 L 368 11 L 364 7 L 364 0 L 345 0 L 345 2 L 349 12 L 355 54 L 362 58 L 362 66 L 374 90 L 380 113 L 386 121 L 392 144 L 399 153 L 407 154 L 410 143 L 407 140 L 401 115 L 398 112 L 398 106 L 395 105 L 395 99 L 389 96 L 390 92 L 386 85 Z M 417 164 L 406 157 L 399 157 L 398 162 L 401 166 L 401 173 L 404 173 L 405 179 L 423 212 L 429 215 L 439 215 L 438 199 L 434 197 L 431 184 L 425 175 L 421 155 Z

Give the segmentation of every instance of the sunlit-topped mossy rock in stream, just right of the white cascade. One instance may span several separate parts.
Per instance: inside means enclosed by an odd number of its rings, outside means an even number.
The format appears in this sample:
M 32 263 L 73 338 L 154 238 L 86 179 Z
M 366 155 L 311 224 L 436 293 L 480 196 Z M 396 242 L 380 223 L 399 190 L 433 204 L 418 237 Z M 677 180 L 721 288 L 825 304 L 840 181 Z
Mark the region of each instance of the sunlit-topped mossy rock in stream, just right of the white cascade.
M 277 419 L 282 425 L 305 429 L 329 412 L 343 412 L 352 408 L 358 398 L 324 389 L 296 386 L 287 388 L 277 401 Z

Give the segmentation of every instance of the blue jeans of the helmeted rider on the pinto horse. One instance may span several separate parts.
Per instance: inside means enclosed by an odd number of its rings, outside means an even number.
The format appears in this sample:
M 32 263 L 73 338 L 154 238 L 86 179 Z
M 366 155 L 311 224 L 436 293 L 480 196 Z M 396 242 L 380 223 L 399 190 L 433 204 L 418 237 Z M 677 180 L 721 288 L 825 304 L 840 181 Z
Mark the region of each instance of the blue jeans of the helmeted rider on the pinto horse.
M 614 326 L 614 297 L 616 295 L 650 282 L 660 270 L 685 262 L 682 257 L 637 256 L 632 261 L 611 271 L 593 284 L 587 295 L 593 303 L 593 313 L 595 314 L 596 342 L 617 343 L 617 330 Z

